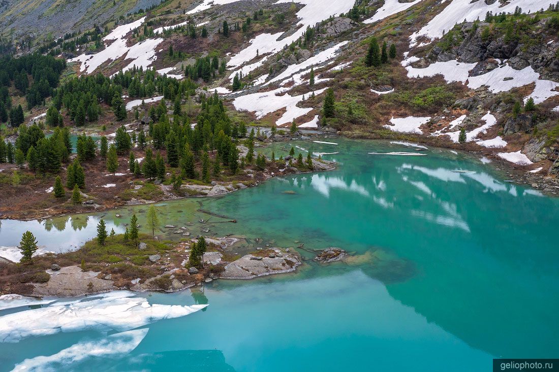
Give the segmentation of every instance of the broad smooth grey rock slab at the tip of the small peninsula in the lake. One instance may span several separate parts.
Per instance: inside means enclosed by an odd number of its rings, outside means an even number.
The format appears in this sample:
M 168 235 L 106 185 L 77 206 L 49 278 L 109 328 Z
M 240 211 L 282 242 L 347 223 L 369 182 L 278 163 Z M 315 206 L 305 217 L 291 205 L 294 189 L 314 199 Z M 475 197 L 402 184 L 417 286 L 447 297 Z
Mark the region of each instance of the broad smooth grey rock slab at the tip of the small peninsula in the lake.
M 280 250 L 260 251 L 258 255 L 248 254 L 226 265 L 220 278 L 252 279 L 257 276 L 290 273 L 299 265 L 301 261 L 295 254 Z

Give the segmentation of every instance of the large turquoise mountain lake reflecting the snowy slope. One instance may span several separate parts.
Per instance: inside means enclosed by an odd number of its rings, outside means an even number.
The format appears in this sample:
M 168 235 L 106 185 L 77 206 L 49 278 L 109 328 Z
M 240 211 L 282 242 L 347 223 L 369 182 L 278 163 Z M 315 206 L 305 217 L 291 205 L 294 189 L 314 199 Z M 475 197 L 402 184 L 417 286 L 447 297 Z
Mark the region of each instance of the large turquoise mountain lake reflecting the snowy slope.
M 156 205 L 162 225 L 246 237 L 248 245 L 236 252 L 266 244 L 294 249 L 302 242 L 311 250 L 341 247 L 354 256 L 350 263 L 320 265 L 299 250 L 305 261 L 293 274 L 137 294 L 151 304 L 209 306 L 131 327 L 148 331 L 133 350 L 123 346 L 107 355 L 72 358 L 64 350 L 122 330 L 37 330 L 0 343 L 0 371 L 26 359 L 39 370 L 64 371 L 491 371 L 495 357 L 558 357 L 559 199 L 505 182 L 492 164 L 470 154 L 369 155 L 417 151 L 386 141 L 318 140 L 338 145 L 293 145 L 339 152 L 323 155 L 337 161 L 336 170 Z M 277 158 L 290 147 L 261 151 L 274 150 Z M 210 217 L 202 226 L 198 220 L 209 216 L 198 209 L 238 223 Z M 17 245 L 30 230 L 45 250 L 74 249 L 95 235 L 99 218 L 120 232 L 132 213 L 144 225 L 146 210 L 3 220 L 0 246 Z M 182 237 L 173 230 L 158 235 Z M 0 330 L 1 316 L 27 311 L 33 310 L 0 311 Z

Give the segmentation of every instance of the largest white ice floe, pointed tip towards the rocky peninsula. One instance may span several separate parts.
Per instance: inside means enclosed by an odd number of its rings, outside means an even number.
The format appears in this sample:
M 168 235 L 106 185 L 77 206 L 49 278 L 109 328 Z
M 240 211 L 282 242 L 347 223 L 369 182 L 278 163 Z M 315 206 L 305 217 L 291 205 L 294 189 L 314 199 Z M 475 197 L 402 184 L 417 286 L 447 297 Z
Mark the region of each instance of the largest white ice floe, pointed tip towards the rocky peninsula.
M 60 332 L 127 331 L 160 319 L 183 317 L 207 305 L 150 304 L 128 291 L 115 291 L 11 313 L 0 322 L 0 342 Z

